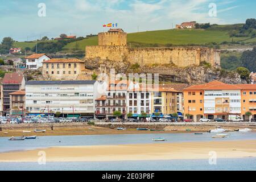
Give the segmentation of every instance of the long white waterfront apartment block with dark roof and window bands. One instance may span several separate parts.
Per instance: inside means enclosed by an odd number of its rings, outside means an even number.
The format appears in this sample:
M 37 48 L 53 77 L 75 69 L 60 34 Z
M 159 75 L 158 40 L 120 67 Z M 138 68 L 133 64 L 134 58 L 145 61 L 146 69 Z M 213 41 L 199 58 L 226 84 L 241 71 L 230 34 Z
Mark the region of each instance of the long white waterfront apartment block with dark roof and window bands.
M 56 113 L 94 117 L 98 82 L 28 81 L 26 84 L 26 109 L 32 114 Z

